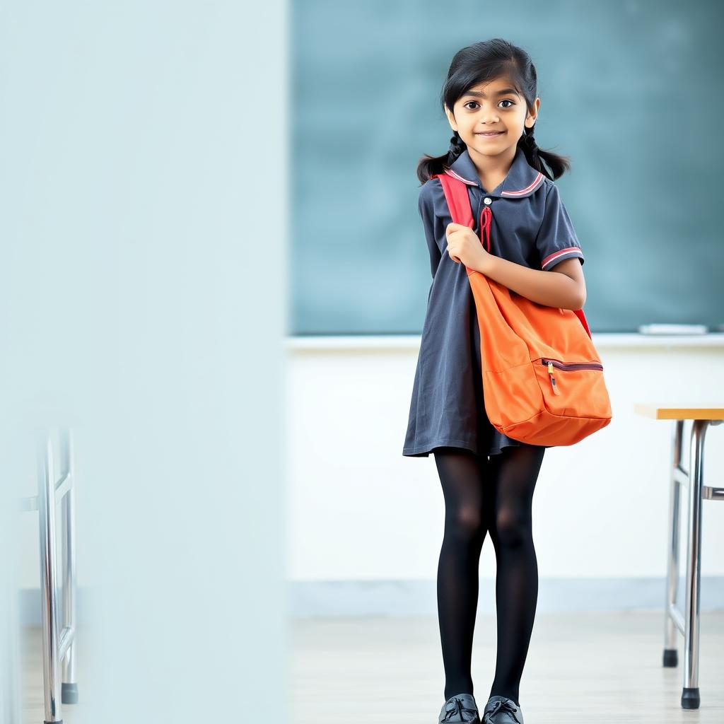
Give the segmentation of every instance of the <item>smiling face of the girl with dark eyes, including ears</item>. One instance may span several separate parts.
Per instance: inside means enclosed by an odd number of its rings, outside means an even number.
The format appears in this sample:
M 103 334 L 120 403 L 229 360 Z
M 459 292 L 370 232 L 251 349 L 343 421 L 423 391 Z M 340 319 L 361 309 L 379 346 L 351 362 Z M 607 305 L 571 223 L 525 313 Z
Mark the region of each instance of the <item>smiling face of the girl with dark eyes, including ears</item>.
M 526 100 L 513 89 L 507 78 L 474 85 L 445 114 L 452 130 L 460 134 L 468 151 L 497 156 L 515 147 L 526 127 L 532 128 L 538 116 L 540 98 L 528 112 Z M 491 132 L 497 132 L 491 135 Z

